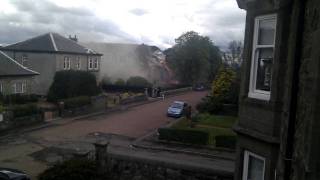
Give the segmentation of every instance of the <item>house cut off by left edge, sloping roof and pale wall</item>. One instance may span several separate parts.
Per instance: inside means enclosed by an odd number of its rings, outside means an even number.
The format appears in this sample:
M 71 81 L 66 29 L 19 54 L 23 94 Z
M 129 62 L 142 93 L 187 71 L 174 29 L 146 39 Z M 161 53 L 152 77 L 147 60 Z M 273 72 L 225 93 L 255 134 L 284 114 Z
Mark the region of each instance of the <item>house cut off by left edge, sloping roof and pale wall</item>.
M 0 51 L 0 93 L 8 94 L 30 94 L 34 77 L 38 72 L 32 71 L 7 54 Z

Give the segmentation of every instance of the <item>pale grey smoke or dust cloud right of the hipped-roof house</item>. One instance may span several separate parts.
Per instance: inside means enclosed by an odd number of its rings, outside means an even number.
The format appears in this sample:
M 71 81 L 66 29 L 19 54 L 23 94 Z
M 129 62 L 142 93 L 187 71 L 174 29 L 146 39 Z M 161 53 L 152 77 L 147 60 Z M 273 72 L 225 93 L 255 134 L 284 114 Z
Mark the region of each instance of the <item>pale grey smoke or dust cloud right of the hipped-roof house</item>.
M 152 83 L 163 83 L 168 77 L 162 61 L 165 56 L 156 46 L 116 43 L 80 43 L 103 54 L 101 76 L 112 80 L 142 76 Z

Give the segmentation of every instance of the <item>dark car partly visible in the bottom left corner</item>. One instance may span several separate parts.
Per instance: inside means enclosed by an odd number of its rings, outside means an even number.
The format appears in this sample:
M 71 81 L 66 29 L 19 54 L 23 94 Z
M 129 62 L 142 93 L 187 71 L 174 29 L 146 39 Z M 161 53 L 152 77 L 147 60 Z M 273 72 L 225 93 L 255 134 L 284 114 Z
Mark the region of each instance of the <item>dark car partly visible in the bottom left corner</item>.
M 0 180 L 30 180 L 30 178 L 22 171 L 9 168 L 0 168 Z

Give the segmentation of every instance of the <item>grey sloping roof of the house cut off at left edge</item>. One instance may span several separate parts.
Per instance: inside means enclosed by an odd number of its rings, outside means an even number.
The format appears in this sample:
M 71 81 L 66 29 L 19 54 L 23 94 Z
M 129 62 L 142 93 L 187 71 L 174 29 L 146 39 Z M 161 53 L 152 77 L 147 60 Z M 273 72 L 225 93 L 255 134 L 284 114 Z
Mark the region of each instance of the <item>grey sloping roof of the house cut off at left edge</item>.
M 39 75 L 39 73 L 22 66 L 7 54 L 0 51 L 0 77 L 34 75 Z

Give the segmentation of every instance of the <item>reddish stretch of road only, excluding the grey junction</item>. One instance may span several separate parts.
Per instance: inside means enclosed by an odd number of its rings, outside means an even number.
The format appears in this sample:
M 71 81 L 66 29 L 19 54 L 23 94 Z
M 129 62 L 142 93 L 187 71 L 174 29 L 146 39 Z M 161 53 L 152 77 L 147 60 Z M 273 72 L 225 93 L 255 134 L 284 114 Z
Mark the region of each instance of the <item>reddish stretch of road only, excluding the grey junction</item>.
M 174 120 L 166 117 L 167 108 L 173 101 L 185 101 L 195 107 L 205 95 L 206 92 L 189 92 L 118 113 L 91 117 L 63 126 L 39 130 L 31 134 L 48 141 L 75 138 L 93 132 L 113 133 L 137 138 Z

